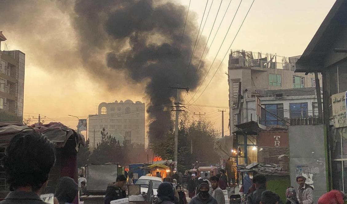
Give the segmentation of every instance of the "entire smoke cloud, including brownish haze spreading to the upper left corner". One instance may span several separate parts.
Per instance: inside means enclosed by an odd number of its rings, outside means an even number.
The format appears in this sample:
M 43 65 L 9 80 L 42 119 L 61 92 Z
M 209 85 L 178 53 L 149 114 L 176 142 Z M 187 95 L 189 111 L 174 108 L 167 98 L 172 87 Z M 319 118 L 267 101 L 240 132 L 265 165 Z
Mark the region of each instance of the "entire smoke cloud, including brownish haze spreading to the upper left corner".
M 46 44 L 38 44 L 41 46 L 35 53 L 39 57 L 46 52 L 50 67 L 63 70 L 81 66 L 113 93 L 128 88 L 126 83 L 143 85 L 150 142 L 170 128 L 171 106 L 162 106 L 172 103 L 176 97 L 176 90 L 169 87 L 179 84 L 194 90 L 205 74 L 202 64 L 195 75 L 206 43 L 204 37 L 187 69 L 198 32 L 195 16 L 189 11 L 181 43 L 187 8 L 171 1 L 7 1 L 1 7 L 0 17 L 8 19 L 7 26 L 13 31 L 39 31 L 34 35 L 35 44 L 42 39 Z M 52 10 L 56 16 L 50 16 Z M 3 12 L 5 14 L 1 14 Z M 26 21 L 31 22 L 30 25 L 26 25 Z M 70 28 L 71 32 L 62 27 Z M 66 39 L 73 41 L 58 41 L 59 34 L 69 35 Z M 50 40 L 52 37 L 57 41 Z M 52 46 L 57 48 L 54 54 L 49 52 Z

